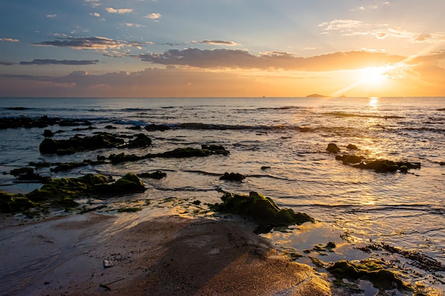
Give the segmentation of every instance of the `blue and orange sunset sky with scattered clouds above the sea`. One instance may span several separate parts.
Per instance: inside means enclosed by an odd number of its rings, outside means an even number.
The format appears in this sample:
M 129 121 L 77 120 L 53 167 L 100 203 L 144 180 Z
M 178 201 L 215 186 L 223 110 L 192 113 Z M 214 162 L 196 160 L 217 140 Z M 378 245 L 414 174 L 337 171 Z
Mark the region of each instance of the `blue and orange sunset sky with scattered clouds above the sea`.
M 0 0 L 0 97 L 445 97 L 444 0 Z

